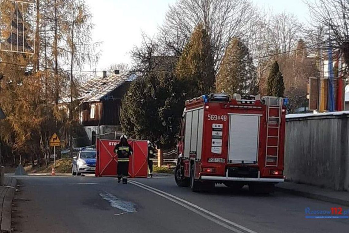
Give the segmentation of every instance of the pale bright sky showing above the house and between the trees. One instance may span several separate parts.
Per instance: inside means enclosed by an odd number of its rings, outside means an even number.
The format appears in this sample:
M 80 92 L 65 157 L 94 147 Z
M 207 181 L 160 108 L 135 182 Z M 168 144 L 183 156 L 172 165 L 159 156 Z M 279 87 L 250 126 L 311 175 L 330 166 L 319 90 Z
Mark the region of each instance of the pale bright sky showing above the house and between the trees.
M 87 0 L 95 24 L 92 38 L 103 42 L 101 58 L 96 67 L 105 70 L 111 64 L 131 63 L 129 51 L 141 42 L 141 32 L 153 36 L 162 24 L 169 4 L 176 0 Z M 253 0 L 260 7 L 271 8 L 274 13 L 294 13 L 306 23 L 307 7 L 303 0 Z

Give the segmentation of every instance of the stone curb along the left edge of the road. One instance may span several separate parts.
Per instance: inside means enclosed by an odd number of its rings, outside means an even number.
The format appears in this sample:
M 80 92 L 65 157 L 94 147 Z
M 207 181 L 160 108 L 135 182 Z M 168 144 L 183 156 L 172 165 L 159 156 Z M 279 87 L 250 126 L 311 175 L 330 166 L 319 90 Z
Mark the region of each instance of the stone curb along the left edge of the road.
M 3 202 L 1 206 L 1 225 L 0 232 L 10 233 L 12 229 L 11 225 L 11 212 L 12 212 L 12 201 L 15 196 L 15 189 L 17 187 L 17 180 L 13 177 L 7 178 L 9 179 L 7 183 L 6 190 L 4 190 L 5 194 L 3 197 Z

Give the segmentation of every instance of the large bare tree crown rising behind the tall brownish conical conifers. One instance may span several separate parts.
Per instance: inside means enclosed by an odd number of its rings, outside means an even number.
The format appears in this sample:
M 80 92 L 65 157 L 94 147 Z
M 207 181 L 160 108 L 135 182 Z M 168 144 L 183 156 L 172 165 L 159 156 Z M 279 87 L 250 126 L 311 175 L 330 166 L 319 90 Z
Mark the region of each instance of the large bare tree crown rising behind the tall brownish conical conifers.
M 253 14 L 250 0 L 179 0 L 165 15 L 160 41 L 178 55 L 194 28 L 202 24 L 210 37 L 215 64 L 219 64 L 230 39 L 244 34 Z

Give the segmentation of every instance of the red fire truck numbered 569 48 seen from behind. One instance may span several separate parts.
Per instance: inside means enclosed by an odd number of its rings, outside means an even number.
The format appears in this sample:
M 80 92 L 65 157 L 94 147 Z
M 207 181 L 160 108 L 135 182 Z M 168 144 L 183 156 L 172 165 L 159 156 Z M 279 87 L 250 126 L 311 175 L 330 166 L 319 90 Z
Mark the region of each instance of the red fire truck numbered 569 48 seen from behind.
M 270 193 L 284 181 L 283 98 L 203 95 L 187 100 L 180 126 L 175 180 L 193 191 L 223 183 Z

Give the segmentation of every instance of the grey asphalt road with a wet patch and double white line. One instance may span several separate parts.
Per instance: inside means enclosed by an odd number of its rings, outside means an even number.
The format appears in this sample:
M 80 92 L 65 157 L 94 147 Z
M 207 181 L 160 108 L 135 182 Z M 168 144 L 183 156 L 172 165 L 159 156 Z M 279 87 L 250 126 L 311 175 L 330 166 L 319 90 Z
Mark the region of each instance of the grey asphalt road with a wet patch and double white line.
M 223 186 L 208 193 L 179 188 L 171 177 L 130 179 L 29 176 L 13 212 L 15 232 L 348 232 L 349 219 L 306 219 L 305 208 L 332 203 L 276 192 L 252 195 Z M 349 207 L 343 207 L 343 211 Z

